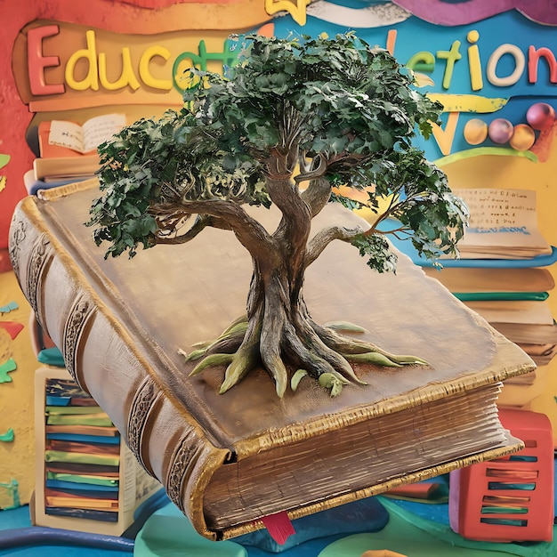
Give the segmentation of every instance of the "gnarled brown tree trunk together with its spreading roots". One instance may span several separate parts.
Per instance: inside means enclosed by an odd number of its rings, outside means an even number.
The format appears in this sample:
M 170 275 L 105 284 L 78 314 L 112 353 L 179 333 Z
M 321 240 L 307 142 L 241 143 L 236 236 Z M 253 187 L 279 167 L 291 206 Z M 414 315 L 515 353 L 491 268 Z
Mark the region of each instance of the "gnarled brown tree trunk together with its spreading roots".
M 308 250 L 311 219 L 327 197 L 327 188 L 322 183 L 311 183 L 315 184 L 313 190 L 310 185 L 306 195 L 301 196 L 289 175 L 268 176 L 271 200 L 282 212 L 277 230 L 266 236 L 260 234 L 255 242 L 247 242 L 246 238 L 252 237 L 236 230 L 254 264 L 246 316 L 188 357 L 205 356 L 191 375 L 212 365 L 227 365 L 221 393 L 236 385 L 254 367 L 262 366 L 269 372 L 279 397 L 284 396 L 289 377 L 297 370 L 311 375 L 334 396 L 351 381 L 362 383 L 349 359 L 381 366 L 425 363 L 338 335 L 311 319 L 303 300 L 303 278 L 315 257 Z

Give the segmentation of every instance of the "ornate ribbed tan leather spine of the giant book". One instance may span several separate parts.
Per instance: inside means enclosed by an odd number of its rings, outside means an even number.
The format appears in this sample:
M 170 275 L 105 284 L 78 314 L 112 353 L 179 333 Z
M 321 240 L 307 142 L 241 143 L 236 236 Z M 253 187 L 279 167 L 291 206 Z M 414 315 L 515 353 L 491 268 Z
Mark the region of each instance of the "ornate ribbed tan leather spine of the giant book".
M 61 349 L 69 374 L 109 414 L 142 467 L 165 486 L 198 532 L 217 539 L 220 534 L 206 526 L 203 493 L 230 451 L 215 447 L 157 382 L 155 364 L 48 231 L 36 203 L 44 202 L 24 198 L 16 207 L 9 247 L 36 319 Z

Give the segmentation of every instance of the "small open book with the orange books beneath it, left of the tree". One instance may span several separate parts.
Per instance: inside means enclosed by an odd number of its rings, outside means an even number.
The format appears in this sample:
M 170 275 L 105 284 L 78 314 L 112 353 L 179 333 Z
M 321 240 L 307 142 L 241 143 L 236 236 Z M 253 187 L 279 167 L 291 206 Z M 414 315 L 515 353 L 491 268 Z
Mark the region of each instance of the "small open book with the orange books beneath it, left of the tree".
M 96 149 L 126 124 L 125 114 L 103 114 L 84 124 L 47 120 L 38 125 L 40 157 L 33 162 L 36 181 L 61 182 L 91 177 L 99 168 Z

